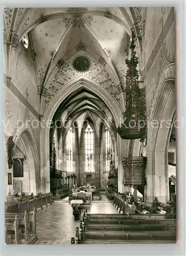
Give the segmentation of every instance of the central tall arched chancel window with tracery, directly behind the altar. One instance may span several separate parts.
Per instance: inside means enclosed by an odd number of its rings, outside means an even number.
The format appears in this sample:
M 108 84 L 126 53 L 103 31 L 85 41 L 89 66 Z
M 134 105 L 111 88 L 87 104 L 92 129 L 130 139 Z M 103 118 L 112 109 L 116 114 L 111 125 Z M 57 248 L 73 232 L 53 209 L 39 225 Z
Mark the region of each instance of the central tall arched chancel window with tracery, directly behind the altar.
M 94 173 L 94 132 L 89 124 L 85 130 L 85 172 Z

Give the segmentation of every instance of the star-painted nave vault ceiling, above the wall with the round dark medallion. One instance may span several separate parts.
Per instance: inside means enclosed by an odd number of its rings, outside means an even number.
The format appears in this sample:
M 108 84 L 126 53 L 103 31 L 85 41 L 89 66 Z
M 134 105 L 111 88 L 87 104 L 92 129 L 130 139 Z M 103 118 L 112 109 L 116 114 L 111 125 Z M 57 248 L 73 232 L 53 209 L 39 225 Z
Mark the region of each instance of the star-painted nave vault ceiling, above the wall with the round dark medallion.
M 125 66 L 130 27 L 117 7 L 112 8 L 15 8 L 5 9 L 5 27 L 10 30 L 16 12 L 18 40 L 30 31 L 38 76 L 49 76 L 57 61 L 75 50 L 79 42 L 102 57 L 119 75 Z M 53 53 L 55 58 L 51 61 Z M 50 67 L 49 67 L 50 65 Z M 45 74 L 45 72 L 47 73 Z M 39 79 L 40 82 L 40 79 Z M 41 86 L 41 84 L 40 84 Z M 45 87 L 45 84 L 42 84 Z

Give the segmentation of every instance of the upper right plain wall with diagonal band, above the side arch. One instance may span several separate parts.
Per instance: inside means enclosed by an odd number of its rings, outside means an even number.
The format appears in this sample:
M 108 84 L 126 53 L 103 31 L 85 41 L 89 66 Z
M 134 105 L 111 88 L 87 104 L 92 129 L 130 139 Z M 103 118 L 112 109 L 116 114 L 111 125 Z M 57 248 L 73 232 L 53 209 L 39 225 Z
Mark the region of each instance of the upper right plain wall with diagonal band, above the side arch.
M 145 37 L 142 41 L 144 87 L 149 113 L 164 67 L 175 58 L 174 8 L 147 8 Z

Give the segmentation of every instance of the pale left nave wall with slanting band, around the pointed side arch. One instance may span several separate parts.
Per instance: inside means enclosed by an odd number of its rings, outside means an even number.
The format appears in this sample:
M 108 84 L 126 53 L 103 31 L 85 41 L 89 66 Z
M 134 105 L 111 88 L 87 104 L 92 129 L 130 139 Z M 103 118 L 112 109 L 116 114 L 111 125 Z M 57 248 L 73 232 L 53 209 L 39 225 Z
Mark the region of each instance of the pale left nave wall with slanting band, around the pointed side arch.
M 4 58 L 4 134 L 5 134 L 5 161 L 7 161 L 7 140 L 9 136 L 13 136 L 14 141 L 18 140 L 21 133 L 28 130 L 33 146 L 35 147 L 35 161 L 39 165 L 39 95 L 37 88 L 36 72 L 34 67 L 34 61 L 32 58 L 32 52 L 30 47 L 26 49 L 22 43 L 20 43 L 18 49 L 15 51 L 14 58 L 11 61 L 10 77 L 6 77 L 6 63 Z M 27 124 L 26 124 L 27 122 Z M 25 126 L 22 129 L 22 126 Z M 33 157 L 32 157 L 33 161 Z M 35 175 L 35 169 L 32 172 Z M 25 162 L 25 170 L 28 170 L 29 166 Z M 13 170 L 8 168 L 6 164 L 6 176 L 7 173 L 12 173 L 13 182 Z M 27 172 L 25 173 L 25 175 Z M 39 174 L 39 166 L 37 167 L 37 175 Z M 25 176 L 26 177 L 26 176 Z M 25 178 L 24 178 L 25 179 Z M 28 180 L 28 179 L 27 179 Z M 33 183 L 34 182 L 34 183 Z M 39 178 L 37 180 L 39 183 Z M 36 188 L 36 181 L 31 181 L 34 190 Z M 6 180 L 7 184 L 7 180 Z M 27 182 L 24 181 L 23 191 L 30 193 L 30 189 Z M 13 194 L 13 184 L 6 185 L 6 194 Z M 33 191 L 34 192 L 34 191 Z

